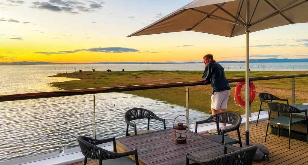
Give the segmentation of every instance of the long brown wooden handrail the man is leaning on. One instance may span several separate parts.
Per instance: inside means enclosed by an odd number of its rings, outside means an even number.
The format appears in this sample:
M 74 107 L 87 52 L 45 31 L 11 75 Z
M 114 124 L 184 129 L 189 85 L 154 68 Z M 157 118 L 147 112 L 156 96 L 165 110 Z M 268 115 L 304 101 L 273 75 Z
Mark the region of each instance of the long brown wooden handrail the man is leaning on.
M 279 75 L 279 76 L 251 77 L 249 78 L 249 80 L 259 81 L 259 80 L 272 80 L 272 79 L 307 77 L 307 76 L 308 74 L 292 74 L 292 75 Z M 242 81 L 245 81 L 245 78 L 231 78 L 231 79 L 228 79 L 228 81 L 229 82 L 242 82 Z M 41 98 L 51 98 L 51 97 L 61 97 L 61 96 L 72 96 L 72 95 L 96 94 L 96 93 L 137 91 L 137 90 L 172 88 L 172 87 L 186 87 L 186 86 L 197 86 L 197 85 L 205 85 L 205 84 L 200 81 L 191 81 L 191 82 L 173 82 L 173 83 L 149 84 L 149 85 L 134 85 L 134 86 L 123 86 L 123 87 L 104 87 L 104 88 L 75 89 L 75 90 L 52 91 L 52 92 L 24 93 L 24 94 L 15 94 L 15 95 L 0 95 L 0 102 L 27 100 L 27 99 L 41 99 Z

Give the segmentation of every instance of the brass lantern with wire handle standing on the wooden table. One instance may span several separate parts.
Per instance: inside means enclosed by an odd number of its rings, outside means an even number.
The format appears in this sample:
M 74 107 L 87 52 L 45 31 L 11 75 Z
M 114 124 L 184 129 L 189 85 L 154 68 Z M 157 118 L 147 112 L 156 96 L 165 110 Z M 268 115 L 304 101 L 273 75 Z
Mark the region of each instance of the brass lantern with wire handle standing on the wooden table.
M 180 116 L 185 116 L 185 115 L 180 115 Z M 177 117 L 179 117 L 179 116 L 177 116 Z M 187 126 L 184 125 L 183 123 L 177 123 L 177 125 L 174 125 L 176 118 L 173 121 L 174 143 L 184 144 L 184 143 L 186 143 L 186 139 L 187 139 Z M 187 118 L 187 120 L 188 120 L 188 118 Z

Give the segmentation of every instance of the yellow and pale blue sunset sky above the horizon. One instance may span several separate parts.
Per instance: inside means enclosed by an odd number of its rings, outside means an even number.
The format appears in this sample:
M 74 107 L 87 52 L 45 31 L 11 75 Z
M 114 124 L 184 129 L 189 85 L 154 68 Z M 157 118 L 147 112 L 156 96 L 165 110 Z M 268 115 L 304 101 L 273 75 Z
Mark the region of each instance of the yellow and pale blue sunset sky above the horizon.
M 245 60 L 245 35 L 126 38 L 192 0 L 0 0 L 0 62 Z M 250 34 L 250 57 L 308 58 L 308 23 Z

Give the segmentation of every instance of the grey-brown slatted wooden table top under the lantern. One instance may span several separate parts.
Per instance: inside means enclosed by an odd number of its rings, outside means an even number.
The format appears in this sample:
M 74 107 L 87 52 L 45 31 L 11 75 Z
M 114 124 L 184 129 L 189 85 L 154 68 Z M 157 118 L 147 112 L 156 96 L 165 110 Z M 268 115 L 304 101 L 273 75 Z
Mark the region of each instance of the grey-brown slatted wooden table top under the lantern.
M 127 136 L 116 140 L 118 152 L 137 149 L 139 164 L 185 164 L 186 153 L 200 158 L 223 155 L 224 146 L 193 131 L 187 131 L 187 143 L 175 144 L 173 129 Z M 134 160 L 133 156 L 130 156 Z M 193 163 L 193 162 L 191 162 Z

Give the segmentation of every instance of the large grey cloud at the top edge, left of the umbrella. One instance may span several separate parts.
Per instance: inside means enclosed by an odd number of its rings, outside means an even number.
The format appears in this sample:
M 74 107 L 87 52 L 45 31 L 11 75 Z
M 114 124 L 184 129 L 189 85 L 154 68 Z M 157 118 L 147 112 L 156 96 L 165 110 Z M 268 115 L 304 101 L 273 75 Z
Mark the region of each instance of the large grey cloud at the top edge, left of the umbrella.
M 76 0 L 63 1 L 63 0 L 49 0 L 48 2 L 32 2 L 30 8 L 49 10 L 53 12 L 67 12 L 71 14 L 79 14 L 79 12 L 94 12 L 103 8 L 102 4 L 105 2 L 93 2 L 87 1 L 88 4 L 84 2 L 79 2 Z

